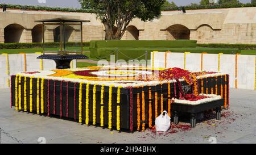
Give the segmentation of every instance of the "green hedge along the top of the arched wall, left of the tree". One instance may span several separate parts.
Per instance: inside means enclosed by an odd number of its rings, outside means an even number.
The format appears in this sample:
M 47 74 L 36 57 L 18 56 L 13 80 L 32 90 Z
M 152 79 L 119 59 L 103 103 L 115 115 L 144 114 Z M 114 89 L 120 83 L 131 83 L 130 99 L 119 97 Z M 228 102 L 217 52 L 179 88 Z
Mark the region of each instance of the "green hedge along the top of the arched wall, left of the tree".
M 2 8 L 3 5 L 7 6 L 7 9 L 24 9 L 24 10 L 44 10 L 44 11 L 67 11 L 67 12 L 89 12 L 89 13 L 96 13 L 97 10 L 92 9 L 74 9 L 74 8 L 63 8 L 63 7 L 47 7 L 47 6 L 32 6 L 32 5 L 11 5 L 1 3 L 0 7 Z

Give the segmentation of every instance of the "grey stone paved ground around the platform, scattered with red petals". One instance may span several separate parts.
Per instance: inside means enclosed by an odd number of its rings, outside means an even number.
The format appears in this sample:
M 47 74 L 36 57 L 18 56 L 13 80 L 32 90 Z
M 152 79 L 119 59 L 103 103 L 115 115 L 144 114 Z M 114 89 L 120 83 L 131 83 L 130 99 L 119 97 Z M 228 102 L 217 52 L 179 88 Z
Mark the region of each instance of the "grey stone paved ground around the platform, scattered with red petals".
M 10 108 L 9 89 L 0 89 L 0 128 L 23 143 L 256 143 L 256 91 L 230 90 L 230 110 L 222 111 L 221 121 L 210 119 L 189 128 L 188 123 L 172 125 L 166 133 L 127 133 L 81 125 L 68 120 L 16 112 Z M 214 115 L 205 115 L 214 118 Z M 1 143 L 16 143 L 1 133 Z

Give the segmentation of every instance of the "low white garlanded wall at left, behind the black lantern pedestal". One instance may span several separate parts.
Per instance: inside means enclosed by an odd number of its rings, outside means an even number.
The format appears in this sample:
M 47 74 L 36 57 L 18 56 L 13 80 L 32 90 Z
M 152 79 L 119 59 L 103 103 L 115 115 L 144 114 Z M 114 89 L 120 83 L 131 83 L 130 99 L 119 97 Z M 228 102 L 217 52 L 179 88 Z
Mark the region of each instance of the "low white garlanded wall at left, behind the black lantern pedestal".
M 19 72 L 34 72 L 39 70 L 55 69 L 53 60 L 41 60 L 36 57 L 42 53 L 20 53 L 14 55 L 0 55 L 0 89 L 10 87 L 10 75 Z M 76 61 L 72 62 L 76 68 Z

